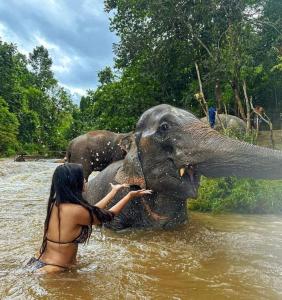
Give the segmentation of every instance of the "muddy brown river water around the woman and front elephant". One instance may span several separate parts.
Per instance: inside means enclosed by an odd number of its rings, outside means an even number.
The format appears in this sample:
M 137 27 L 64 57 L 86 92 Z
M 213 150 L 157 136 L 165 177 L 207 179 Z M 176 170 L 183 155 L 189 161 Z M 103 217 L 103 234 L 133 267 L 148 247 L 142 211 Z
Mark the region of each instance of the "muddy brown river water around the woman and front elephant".
M 192 213 L 174 230 L 95 228 L 69 272 L 38 250 L 53 161 L 0 161 L 0 299 L 282 299 L 282 217 Z

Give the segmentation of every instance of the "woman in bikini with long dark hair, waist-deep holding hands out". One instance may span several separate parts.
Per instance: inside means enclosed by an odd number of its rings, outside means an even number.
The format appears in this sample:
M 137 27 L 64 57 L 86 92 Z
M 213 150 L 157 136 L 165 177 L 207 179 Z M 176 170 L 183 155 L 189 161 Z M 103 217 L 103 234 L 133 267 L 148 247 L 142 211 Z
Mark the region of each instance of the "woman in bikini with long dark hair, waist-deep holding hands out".
M 90 238 L 92 225 L 111 221 L 129 201 L 151 193 L 150 190 L 131 191 L 109 210 L 105 210 L 117 191 L 128 187 L 125 184 L 111 186 L 111 192 L 93 206 L 82 196 L 85 190 L 82 166 L 69 163 L 56 168 L 40 254 L 28 262 L 33 270 L 42 273 L 67 270 L 76 263 L 78 244 Z

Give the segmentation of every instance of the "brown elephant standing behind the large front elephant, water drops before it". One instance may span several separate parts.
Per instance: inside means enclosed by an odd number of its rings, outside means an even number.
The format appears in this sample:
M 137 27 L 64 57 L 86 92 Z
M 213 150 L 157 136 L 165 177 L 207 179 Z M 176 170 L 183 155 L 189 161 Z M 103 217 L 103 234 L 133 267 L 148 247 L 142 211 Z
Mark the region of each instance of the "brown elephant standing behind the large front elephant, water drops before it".
M 132 133 L 107 130 L 90 131 L 74 138 L 68 145 L 65 160 L 82 164 L 86 181 L 93 171 L 102 171 L 110 163 L 123 159 Z

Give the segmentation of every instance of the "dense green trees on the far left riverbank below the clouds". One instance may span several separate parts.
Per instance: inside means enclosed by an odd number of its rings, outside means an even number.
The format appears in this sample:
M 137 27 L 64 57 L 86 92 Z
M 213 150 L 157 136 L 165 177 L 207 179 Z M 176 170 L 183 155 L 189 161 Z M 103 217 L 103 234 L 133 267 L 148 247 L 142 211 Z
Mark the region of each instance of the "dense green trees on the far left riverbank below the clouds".
M 66 147 L 75 107 L 51 66 L 44 47 L 27 58 L 0 40 L 0 155 Z

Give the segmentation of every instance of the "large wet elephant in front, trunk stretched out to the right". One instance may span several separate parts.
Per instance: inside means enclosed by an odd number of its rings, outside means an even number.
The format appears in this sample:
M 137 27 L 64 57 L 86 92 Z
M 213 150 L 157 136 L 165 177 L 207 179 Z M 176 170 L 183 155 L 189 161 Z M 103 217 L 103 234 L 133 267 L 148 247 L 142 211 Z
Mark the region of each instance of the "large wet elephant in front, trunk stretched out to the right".
M 90 180 L 85 196 L 95 204 L 109 192 L 109 183 L 129 184 L 111 206 L 129 190 L 151 189 L 108 227 L 170 228 L 187 222 L 187 199 L 197 197 L 201 175 L 281 179 L 282 152 L 231 139 L 192 113 L 161 104 L 142 114 L 125 158 Z

